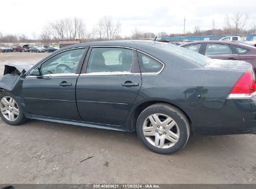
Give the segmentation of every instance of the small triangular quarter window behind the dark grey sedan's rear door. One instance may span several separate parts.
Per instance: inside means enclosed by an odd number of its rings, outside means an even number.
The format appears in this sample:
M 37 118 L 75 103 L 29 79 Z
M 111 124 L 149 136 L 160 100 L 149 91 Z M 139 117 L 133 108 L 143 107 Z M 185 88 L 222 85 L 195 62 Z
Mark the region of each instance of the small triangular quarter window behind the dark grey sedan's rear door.
M 141 73 L 158 73 L 164 65 L 154 58 L 138 52 Z

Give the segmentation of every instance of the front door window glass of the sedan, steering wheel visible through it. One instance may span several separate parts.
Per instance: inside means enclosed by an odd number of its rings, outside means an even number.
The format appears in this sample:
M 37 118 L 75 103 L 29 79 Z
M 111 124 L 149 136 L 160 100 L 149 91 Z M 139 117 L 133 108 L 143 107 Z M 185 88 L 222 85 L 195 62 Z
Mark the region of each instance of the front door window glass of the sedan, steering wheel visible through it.
M 87 50 L 87 48 L 78 48 L 55 55 L 40 66 L 40 74 L 75 73 L 85 50 Z

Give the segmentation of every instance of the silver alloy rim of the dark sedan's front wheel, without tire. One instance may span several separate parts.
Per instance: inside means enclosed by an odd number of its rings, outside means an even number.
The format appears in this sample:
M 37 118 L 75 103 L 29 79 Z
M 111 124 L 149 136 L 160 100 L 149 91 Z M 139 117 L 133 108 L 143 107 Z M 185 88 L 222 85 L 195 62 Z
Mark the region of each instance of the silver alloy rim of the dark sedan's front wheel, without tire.
M 19 106 L 10 96 L 4 96 L 0 101 L 2 116 L 8 121 L 16 121 L 19 117 Z

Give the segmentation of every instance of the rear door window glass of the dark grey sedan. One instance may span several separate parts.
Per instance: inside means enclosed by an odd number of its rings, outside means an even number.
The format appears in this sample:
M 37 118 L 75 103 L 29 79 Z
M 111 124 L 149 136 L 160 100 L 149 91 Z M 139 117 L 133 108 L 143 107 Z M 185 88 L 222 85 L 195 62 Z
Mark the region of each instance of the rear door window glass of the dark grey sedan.
M 133 50 L 128 48 L 93 48 L 87 73 L 130 73 L 133 60 Z

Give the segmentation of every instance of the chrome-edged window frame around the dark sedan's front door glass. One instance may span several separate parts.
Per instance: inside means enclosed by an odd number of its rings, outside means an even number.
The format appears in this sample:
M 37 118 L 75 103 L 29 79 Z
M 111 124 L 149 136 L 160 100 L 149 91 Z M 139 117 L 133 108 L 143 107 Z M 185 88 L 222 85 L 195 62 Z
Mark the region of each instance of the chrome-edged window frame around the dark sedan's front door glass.
M 35 75 L 31 75 L 31 72 L 34 71 L 36 68 L 40 67 L 43 63 L 47 62 L 47 60 L 49 60 L 50 58 L 53 58 L 57 55 L 59 55 L 60 53 L 63 53 L 63 52 L 67 52 L 69 50 L 76 50 L 76 49 L 80 49 L 80 48 L 89 48 L 89 47 L 75 47 L 75 48 L 69 48 L 69 49 L 65 49 L 65 50 L 62 50 L 60 52 L 57 52 L 55 53 L 54 55 L 51 55 L 50 57 L 46 58 L 43 62 L 39 63 L 39 65 L 35 65 L 35 67 L 32 67 L 31 70 L 29 70 L 29 74 L 26 76 L 26 78 L 34 78 L 34 77 L 38 77 L 38 76 L 35 76 Z M 88 52 L 88 49 L 87 49 L 87 52 Z M 83 64 L 83 61 L 87 55 L 87 52 L 85 53 L 85 55 L 83 55 L 83 57 L 81 58 L 79 64 L 78 64 L 78 67 L 77 69 L 79 68 L 81 70 L 81 66 L 79 67 L 79 65 L 82 63 Z M 80 70 L 77 70 L 80 72 Z M 46 74 L 46 75 L 43 75 L 43 76 L 50 76 L 50 77 L 55 77 L 55 76 L 77 76 L 79 75 L 77 73 L 77 71 L 75 73 L 56 73 L 56 74 Z

